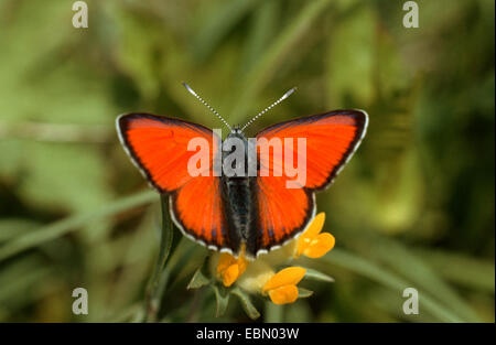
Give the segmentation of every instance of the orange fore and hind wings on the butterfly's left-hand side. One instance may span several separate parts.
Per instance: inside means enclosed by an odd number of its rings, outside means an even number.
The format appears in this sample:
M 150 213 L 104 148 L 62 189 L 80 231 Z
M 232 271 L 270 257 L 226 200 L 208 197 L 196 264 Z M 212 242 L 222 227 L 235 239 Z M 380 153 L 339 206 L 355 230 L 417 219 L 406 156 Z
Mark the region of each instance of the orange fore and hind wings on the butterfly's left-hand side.
M 160 193 L 170 194 L 171 215 L 183 234 L 209 248 L 229 248 L 219 179 L 212 173 L 218 151 L 214 132 L 196 123 L 149 114 L 120 116 L 117 131 L 150 184 Z M 187 171 L 187 163 L 196 153 L 187 150 L 194 138 L 208 142 L 208 176 L 193 177 Z

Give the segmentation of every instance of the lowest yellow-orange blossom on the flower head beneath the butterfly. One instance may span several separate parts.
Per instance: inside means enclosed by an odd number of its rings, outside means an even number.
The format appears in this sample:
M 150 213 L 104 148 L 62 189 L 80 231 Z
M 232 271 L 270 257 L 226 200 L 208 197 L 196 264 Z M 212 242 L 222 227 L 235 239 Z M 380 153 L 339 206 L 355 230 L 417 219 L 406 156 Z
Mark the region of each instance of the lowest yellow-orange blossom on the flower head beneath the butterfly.
M 269 294 L 274 304 L 293 303 L 298 299 L 296 284 L 306 270 L 301 267 L 288 267 L 276 273 L 262 288 L 262 294 Z

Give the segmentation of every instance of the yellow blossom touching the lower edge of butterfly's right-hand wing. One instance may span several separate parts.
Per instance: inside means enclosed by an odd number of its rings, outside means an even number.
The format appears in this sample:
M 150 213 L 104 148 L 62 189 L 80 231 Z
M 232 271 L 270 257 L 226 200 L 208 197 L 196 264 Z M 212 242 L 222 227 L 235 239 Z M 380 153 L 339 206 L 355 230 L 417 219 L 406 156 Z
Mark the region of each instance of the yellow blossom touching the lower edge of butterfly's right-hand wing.
M 309 228 L 298 239 L 294 254 L 295 258 L 304 255 L 309 258 L 316 259 L 333 249 L 335 244 L 334 236 L 328 233 L 321 234 L 324 222 L 325 213 L 322 212 L 315 216 Z

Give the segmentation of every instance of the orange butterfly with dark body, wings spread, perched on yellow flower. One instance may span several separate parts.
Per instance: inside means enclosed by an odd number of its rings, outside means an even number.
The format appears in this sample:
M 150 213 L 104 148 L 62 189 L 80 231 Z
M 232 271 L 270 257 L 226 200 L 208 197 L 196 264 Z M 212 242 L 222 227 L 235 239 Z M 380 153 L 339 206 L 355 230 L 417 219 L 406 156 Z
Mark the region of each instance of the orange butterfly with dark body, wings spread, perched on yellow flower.
M 304 182 L 288 187 L 288 181 L 294 177 L 282 170 L 285 161 L 281 161 L 273 148 L 255 147 L 255 155 L 250 157 L 251 162 L 256 162 L 256 175 L 216 174 L 214 166 L 216 160 L 222 168 L 230 165 L 227 157 L 231 151 L 225 149 L 230 139 L 250 148 L 244 129 L 294 89 L 244 127 L 231 128 L 184 85 L 228 126 L 230 132 L 224 141 L 202 125 L 172 117 L 133 112 L 119 116 L 116 121 L 119 139 L 131 161 L 152 187 L 169 196 L 174 224 L 186 237 L 208 249 L 235 257 L 242 252 L 247 258 L 256 258 L 298 237 L 315 216 L 315 193 L 332 184 L 358 148 L 366 133 L 367 114 L 334 110 L 283 121 L 259 131 L 255 136 L 257 141 L 285 143 L 287 139 L 304 139 L 304 151 L 300 147 L 284 151 L 293 159 L 305 155 Z M 198 138 L 208 145 L 205 157 L 208 164 L 202 174 L 192 174 L 188 162 L 197 152 L 190 143 Z M 242 158 L 250 161 L 247 151 L 242 152 Z M 265 174 L 260 173 L 262 169 L 266 169 Z

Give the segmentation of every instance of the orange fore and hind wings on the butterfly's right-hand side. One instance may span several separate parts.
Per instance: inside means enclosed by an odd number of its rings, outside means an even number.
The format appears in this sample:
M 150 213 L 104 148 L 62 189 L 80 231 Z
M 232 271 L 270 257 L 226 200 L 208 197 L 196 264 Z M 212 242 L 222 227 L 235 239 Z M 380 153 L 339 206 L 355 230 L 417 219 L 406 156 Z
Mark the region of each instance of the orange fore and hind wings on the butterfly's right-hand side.
M 365 136 L 367 115 L 360 110 L 335 110 L 273 125 L 257 134 L 257 140 L 293 138 L 293 154 L 298 162 L 296 140 L 306 140 L 306 181 L 288 188 L 294 177 L 284 172 L 283 161 L 272 150 L 258 150 L 259 165 L 268 176 L 257 176 L 259 234 L 257 247 L 268 251 L 302 233 L 315 214 L 314 192 L 327 187 L 353 155 Z M 274 171 L 282 172 L 274 176 Z

